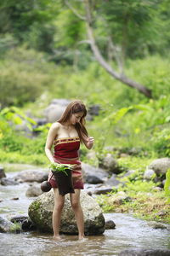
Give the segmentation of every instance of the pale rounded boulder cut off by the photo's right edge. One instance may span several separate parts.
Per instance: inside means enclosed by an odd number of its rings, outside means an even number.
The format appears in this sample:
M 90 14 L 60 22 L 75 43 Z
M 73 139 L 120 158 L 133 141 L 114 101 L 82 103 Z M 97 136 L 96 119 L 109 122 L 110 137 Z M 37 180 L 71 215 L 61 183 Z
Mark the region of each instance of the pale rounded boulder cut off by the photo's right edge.
M 157 175 L 165 174 L 170 169 L 170 158 L 160 158 L 153 160 L 148 166 L 148 169 L 154 170 Z

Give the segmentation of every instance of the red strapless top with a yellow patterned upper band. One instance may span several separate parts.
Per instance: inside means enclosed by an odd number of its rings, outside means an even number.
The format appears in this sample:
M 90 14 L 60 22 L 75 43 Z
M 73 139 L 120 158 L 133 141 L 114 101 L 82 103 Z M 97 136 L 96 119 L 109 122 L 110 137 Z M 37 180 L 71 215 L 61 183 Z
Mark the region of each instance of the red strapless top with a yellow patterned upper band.
M 64 137 L 54 141 L 54 157 L 77 158 L 80 148 L 79 137 Z

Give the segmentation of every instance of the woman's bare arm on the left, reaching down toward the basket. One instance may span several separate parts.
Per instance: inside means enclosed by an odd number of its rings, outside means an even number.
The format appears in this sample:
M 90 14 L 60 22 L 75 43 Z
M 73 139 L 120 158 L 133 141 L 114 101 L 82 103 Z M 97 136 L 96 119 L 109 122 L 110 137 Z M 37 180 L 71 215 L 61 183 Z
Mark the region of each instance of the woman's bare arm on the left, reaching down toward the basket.
M 51 125 L 48 131 L 48 137 L 45 144 L 45 154 L 47 155 L 48 160 L 50 160 L 51 163 L 54 163 L 54 157 L 51 152 L 51 148 L 53 146 L 55 137 L 57 137 L 58 135 L 58 131 L 59 131 L 59 123 L 54 123 L 53 125 Z

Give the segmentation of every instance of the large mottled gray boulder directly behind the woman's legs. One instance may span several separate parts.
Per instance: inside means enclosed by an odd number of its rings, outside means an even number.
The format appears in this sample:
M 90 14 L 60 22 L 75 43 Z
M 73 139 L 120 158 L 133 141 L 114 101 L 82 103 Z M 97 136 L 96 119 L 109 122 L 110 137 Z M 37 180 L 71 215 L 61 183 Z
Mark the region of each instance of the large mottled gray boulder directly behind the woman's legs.
M 81 191 L 81 205 L 84 214 L 86 235 L 99 235 L 105 231 L 105 218 L 99 204 L 87 193 Z M 29 207 L 29 217 L 38 230 L 52 232 L 52 212 L 54 210 L 54 192 L 40 195 Z M 71 208 L 70 196 L 65 195 L 65 207 L 61 215 L 61 233 L 77 234 L 77 224 Z

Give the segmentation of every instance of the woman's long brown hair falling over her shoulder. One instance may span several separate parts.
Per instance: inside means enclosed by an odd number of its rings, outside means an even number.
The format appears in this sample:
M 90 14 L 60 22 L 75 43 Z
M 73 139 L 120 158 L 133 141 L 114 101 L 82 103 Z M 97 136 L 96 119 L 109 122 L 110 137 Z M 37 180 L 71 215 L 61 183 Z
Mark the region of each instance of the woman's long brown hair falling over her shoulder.
M 75 128 L 77 130 L 78 136 L 80 137 L 81 142 L 86 141 L 86 137 L 88 137 L 88 131 L 85 127 L 85 116 L 87 115 L 87 109 L 85 105 L 81 101 L 74 101 L 71 102 L 65 109 L 65 112 L 62 114 L 61 118 L 58 120 L 58 122 L 63 125 L 68 120 L 71 119 L 72 113 L 80 113 L 82 112 L 82 118 L 80 119 L 80 122 L 75 125 Z

